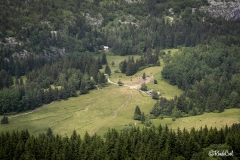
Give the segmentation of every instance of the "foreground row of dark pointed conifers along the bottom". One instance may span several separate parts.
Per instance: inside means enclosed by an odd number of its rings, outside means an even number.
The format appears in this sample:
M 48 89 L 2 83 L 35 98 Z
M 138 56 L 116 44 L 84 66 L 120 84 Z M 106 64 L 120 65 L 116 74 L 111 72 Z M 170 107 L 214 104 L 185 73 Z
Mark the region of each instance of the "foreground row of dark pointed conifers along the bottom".
M 104 138 L 86 133 L 80 137 L 47 134 L 31 136 L 27 130 L 0 134 L 0 159 L 207 159 L 209 151 L 228 151 L 228 158 L 240 158 L 240 125 L 216 128 L 179 128 L 167 126 L 131 128 L 117 132 L 109 129 Z

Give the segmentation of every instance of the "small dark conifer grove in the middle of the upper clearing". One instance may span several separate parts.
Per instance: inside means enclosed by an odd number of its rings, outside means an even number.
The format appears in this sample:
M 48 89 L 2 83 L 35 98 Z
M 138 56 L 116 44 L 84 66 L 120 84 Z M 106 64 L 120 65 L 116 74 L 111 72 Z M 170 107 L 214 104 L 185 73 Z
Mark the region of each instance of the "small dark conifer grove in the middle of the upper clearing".
M 125 73 L 126 76 L 131 76 L 135 74 L 137 71 L 142 70 L 148 66 L 160 65 L 159 55 L 146 53 L 144 56 L 141 56 L 140 59 L 134 61 L 133 56 L 128 57 L 128 60 L 124 60 L 120 62 L 119 68 L 122 73 Z

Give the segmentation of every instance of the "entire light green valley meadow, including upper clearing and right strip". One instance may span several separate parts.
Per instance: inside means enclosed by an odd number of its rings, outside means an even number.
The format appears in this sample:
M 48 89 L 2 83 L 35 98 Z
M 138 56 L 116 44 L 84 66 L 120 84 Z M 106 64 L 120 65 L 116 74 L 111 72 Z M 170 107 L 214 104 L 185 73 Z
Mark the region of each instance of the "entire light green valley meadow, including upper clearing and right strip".
M 9 124 L 1 125 L 0 132 L 28 129 L 33 135 L 38 135 L 51 127 L 54 133 L 61 135 L 69 136 L 75 129 L 83 136 L 85 132 L 91 135 L 95 133 L 104 135 L 109 128 L 124 130 L 132 126 L 144 127 L 139 121 L 133 120 L 135 107 L 138 105 L 141 111 L 148 115 L 156 101 L 146 93 L 129 86 L 139 87 L 143 82 L 146 82 L 148 89 L 160 91 L 161 96 L 168 99 L 183 92 L 177 86 L 172 86 L 162 79 L 162 60 L 161 66 L 146 68 L 131 77 L 127 77 L 122 73 L 114 73 L 114 70 L 119 70 L 119 63 L 128 59 L 128 56 L 114 56 L 111 52 L 106 52 L 106 55 L 112 70 L 110 80 L 118 82 L 121 79 L 128 86 L 108 83 L 106 87 L 93 90 L 86 95 L 55 101 L 33 111 L 9 116 Z M 138 57 L 134 56 L 134 59 L 136 60 Z M 112 61 L 114 61 L 114 65 L 111 65 Z M 105 66 L 102 70 L 104 68 Z M 146 81 L 141 78 L 144 72 L 148 76 Z M 158 81 L 158 84 L 153 84 L 154 79 Z M 240 122 L 239 115 L 240 109 L 228 109 L 223 113 L 204 113 L 200 116 L 176 119 L 176 121 L 172 121 L 171 118 L 152 119 L 151 121 L 156 126 L 167 124 L 169 128 L 173 129 L 178 127 L 200 128 L 205 125 L 220 128 L 226 124 Z M 0 118 L 2 119 L 2 117 Z

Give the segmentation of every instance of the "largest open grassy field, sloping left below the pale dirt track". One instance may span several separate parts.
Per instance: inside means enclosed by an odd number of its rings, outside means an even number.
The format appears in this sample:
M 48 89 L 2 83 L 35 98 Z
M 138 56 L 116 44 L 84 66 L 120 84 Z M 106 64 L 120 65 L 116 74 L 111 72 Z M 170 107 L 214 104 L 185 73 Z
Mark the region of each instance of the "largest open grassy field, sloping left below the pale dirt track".
M 132 123 L 136 105 L 147 113 L 154 103 L 149 97 L 142 97 L 137 90 L 110 85 L 87 95 L 45 105 L 30 114 L 9 117 L 9 124 L 1 125 L 0 131 L 28 129 L 38 135 L 51 127 L 54 133 L 61 135 L 71 135 L 74 129 L 81 135 L 86 131 L 101 134 L 106 128 L 121 128 Z

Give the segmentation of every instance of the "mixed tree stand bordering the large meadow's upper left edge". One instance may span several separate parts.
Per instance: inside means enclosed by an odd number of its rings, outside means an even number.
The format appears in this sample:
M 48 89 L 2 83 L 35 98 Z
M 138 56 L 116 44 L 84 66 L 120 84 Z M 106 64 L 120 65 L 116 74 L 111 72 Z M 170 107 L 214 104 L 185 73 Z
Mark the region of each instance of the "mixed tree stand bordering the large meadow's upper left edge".
M 10 88 L 0 90 L 0 114 L 35 109 L 42 104 L 86 94 L 107 82 L 101 59 L 91 54 L 76 54 L 45 64 L 26 74 L 26 84 L 16 78 Z M 54 87 L 55 86 L 55 87 Z

